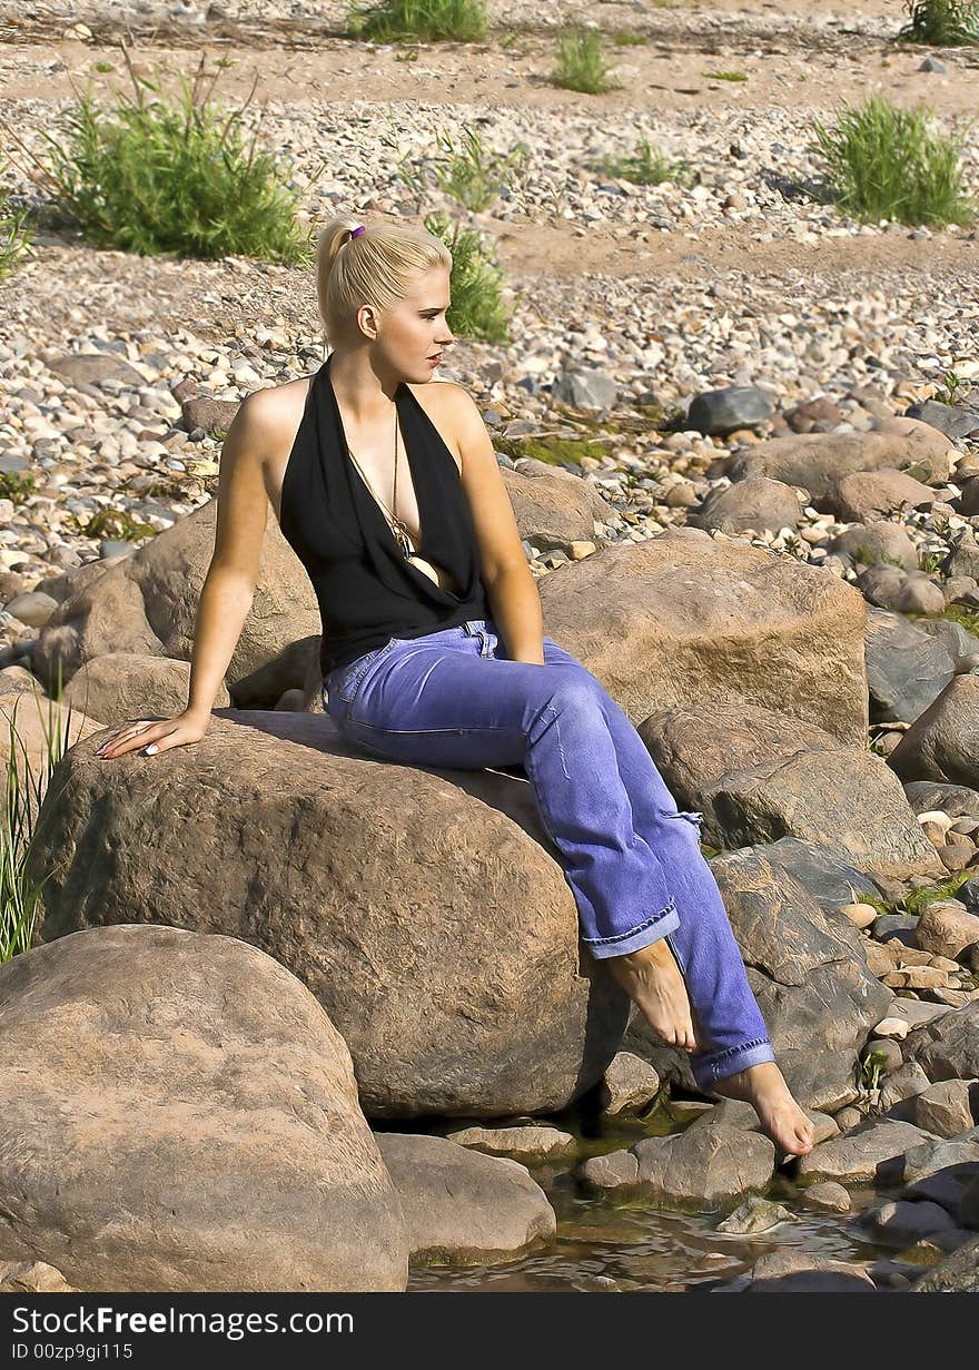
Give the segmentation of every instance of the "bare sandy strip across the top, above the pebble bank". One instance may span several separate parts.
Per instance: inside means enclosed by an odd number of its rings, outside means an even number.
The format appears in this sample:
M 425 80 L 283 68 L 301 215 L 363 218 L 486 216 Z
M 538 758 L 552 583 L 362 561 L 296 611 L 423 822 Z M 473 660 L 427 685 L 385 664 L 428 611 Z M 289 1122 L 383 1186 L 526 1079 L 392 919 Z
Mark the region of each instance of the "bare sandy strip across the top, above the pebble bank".
M 628 14 L 628 11 L 623 11 Z M 827 40 L 828 41 L 828 40 Z M 659 36 L 644 47 L 613 48 L 613 74 L 622 89 L 585 96 L 563 90 L 549 81 L 553 40 L 520 34 L 503 49 L 486 44 L 438 44 L 418 49 L 416 62 L 398 60 L 393 48 L 378 49 L 325 38 L 315 47 L 277 49 L 208 41 L 205 51 L 231 63 L 219 81 L 226 99 L 244 99 L 259 77 L 256 99 L 301 105 L 311 99 L 419 100 L 426 104 L 509 104 L 581 110 L 587 101 L 596 118 L 615 110 L 711 110 L 812 105 L 832 108 L 859 103 L 874 89 L 901 105 L 926 103 L 942 115 L 971 115 L 979 90 L 979 48 L 946 51 L 945 74 L 917 68 L 927 51 L 897 47 L 861 37 L 834 38 L 835 48 L 819 47 L 816 36 L 783 32 L 764 48 L 754 40 L 739 48 L 737 32 L 712 51 L 690 51 L 690 38 Z M 188 49 L 140 41 L 137 60 L 149 71 L 174 79 L 192 71 Z M 0 90 L 4 99 L 70 99 L 66 71 L 81 82 L 94 63 L 114 62 L 129 89 L 118 47 L 53 40 L 36 44 L 0 44 Z M 741 71 L 746 81 L 709 79 L 705 73 Z M 114 77 L 108 78 L 110 81 Z M 103 88 L 97 78 L 99 89 Z

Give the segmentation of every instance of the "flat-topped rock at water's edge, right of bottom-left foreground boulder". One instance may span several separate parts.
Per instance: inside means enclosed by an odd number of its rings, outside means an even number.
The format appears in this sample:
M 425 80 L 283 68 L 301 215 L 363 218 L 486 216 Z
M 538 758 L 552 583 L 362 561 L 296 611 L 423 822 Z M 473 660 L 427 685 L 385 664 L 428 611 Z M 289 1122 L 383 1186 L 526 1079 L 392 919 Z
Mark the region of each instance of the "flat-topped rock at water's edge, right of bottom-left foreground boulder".
M 415 1260 L 508 1260 L 555 1237 L 557 1219 L 526 1166 L 445 1137 L 375 1132 Z

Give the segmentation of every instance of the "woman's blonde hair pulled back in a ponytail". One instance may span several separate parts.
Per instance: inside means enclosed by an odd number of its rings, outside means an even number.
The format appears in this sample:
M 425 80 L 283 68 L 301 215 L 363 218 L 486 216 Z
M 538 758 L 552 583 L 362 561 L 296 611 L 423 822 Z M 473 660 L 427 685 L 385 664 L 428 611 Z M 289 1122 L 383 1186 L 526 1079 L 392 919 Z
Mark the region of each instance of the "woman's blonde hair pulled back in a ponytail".
M 452 271 L 452 253 L 427 229 L 377 223 L 351 237 L 356 219 L 337 215 L 316 241 L 316 295 L 334 344 L 361 304 L 386 310 L 408 293 L 411 277 L 433 266 Z

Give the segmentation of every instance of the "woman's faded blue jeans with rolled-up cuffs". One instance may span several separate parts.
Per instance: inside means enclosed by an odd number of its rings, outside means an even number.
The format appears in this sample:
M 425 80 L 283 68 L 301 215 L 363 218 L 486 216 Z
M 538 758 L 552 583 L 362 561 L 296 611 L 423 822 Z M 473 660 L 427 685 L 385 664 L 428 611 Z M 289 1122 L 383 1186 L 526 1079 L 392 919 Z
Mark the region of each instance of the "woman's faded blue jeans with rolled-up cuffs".
M 338 666 L 323 707 L 355 748 L 409 766 L 522 763 L 592 956 L 667 938 L 696 1014 L 698 1088 L 774 1060 L 727 911 L 682 812 L 627 715 L 576 658 L 544 638 L 512 662 L 493 619 L 392 637 Z

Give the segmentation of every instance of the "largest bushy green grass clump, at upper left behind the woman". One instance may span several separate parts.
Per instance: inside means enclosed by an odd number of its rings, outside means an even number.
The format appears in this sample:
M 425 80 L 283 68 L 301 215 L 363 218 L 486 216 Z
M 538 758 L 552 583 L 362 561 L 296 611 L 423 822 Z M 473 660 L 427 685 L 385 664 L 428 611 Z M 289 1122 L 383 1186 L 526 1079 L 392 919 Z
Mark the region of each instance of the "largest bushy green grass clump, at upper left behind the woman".
M 179 97 L 171 103 L 159 68 L 155 77 L 137 75 L 126 48 L 123 56 L 133 95 L 112 90 L 115 103 L 103 110 L 89 78 L 62 116 L 64 137 L 42 130 L 47 163 L 7 130 L 29 158 L 27 174 L 53 193 L 58 208 L 96 247 L 141 256 L 236 253 L 311 264 L 311 230 L 296 218 L 294 193 L 277 160 L 257 151 L 259 127 L 251 141 L 244 133 L 255 86 L 229 111 L 211 100 L 229 63 L 205 73 L 201 58 L 193 85 L 181 75 Z

